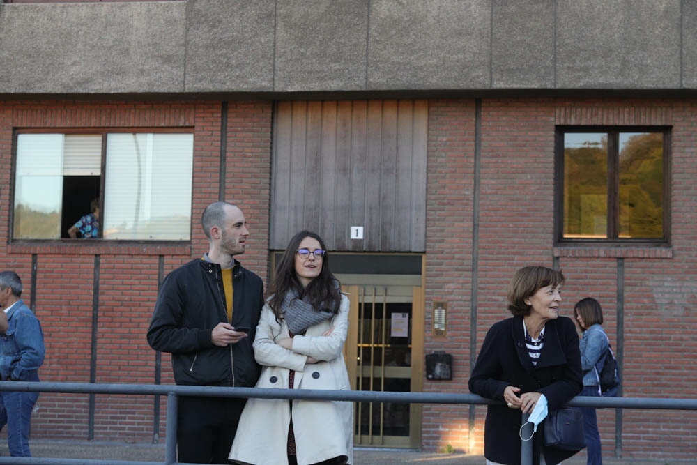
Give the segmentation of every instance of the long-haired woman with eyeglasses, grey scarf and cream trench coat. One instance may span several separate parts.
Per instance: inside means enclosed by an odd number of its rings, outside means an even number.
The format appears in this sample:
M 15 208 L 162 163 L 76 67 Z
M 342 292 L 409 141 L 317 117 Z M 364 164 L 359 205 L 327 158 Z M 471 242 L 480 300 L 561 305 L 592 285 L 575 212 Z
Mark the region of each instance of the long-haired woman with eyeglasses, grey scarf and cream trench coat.
M 254 339 L 257 388 L 348 390 L 342 349 L 348 298 L 322 239 L 291 238 L 268 289 Z M 249 399 L 230 451 L 254 465 L 353 463 L 352 402 Z

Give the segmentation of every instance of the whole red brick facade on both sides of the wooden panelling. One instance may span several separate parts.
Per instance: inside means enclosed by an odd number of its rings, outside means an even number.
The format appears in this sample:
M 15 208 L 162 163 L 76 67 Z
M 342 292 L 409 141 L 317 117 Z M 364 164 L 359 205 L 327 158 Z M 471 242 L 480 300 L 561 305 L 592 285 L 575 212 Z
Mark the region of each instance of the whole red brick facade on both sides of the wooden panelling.
M 477 105 L 480 105 L 479 107 Z M 36 260 L 35 310 L 46 338 L 43 381 L 89 382 L 93 289 L 98 345 L 95 381 L 144 383 L 155 379 L 155 353 L 145 332 L 160 279 L 207 250 L 199 215 L 220 195 L 220 102 L 0 102 L 0 248 L 2 268 L 25 282 L 29 303 Z M 481 138 L 475 123 L 480 111 Z M 252 234 L 243 264 L 266 282 L 273 104 L 227 104 L 224 195 L 240 205 Z M 507 317 L 505 294 L 514 270 L 552 266 L 567 276 L 562 314 L 579 298 L 603 304 L 605 328 L 616 341 L 618 289 L 624 302 L 624 395 L 696 398 L 697 374 L 697 102 L 664 100 L 483 99 L 429 101 L 426 319 L 424 352 L 454 357 L 452 381 L 424 381 L 427 392 L 467 392 L 470 313 L 477 310 L 476 341 Z M 671 247 L 593 249 L 554 247 L 554 129 L 556 125 L 669 125 L 671 137 Z M 10 243 L 13 130 L 18 128 L 187 128 L 194 131 L 192 245 Z M 475 163 L 475 153 L 480 162 Z M 478 173 L 477 170 L 478 169 Z M 476 177 L 478 174 L 478 178 Z M 476 218 L 475 218 L 476 213 Z M 476 229 L 475 229 L 476 227 Z M 99 281 L 95 283 L 95 269 Z M 621 282 L 620 282 L 621 280 Z M 473 283 L 475 284 L 473 286 Z M 476 299 L 473 302 L 473 296 Z M 448 305 L 447 338 L 431 337 L 434 300 Z M 423 329 L 425 328 L 425 329 Z M 171 383 L 162 356 L 162 383 Z M 89 397 L 44 393 L 33 415 L 33 437 L 87 437 Z M 164 402 L 162 404 L 164 406 Z M 164 410 L 164 409 L 163 409 Z M 425 405 L 422 444 L 481 453 L 484 408 Z M 654 418 L 659 418 L 655 420 Z M 611 454 L 615 411 L 599 411 L 604 450 Z M 694 413 L 622 412 L 625 457 L 694 458 Z M 153 399 L 95 397 L 97 440 L 148 442 Z M 164 413 L 160 425 L 164 425 Z M 164 426 L 159 434 L 164 435 Z

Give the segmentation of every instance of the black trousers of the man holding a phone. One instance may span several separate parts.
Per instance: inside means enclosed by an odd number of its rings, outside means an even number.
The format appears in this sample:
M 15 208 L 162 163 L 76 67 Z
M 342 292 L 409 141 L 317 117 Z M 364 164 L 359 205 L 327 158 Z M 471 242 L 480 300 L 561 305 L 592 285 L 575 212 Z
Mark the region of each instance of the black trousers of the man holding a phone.
M 232 441 L 247 399 L 178 397 L 178 462 L 230 464 Z

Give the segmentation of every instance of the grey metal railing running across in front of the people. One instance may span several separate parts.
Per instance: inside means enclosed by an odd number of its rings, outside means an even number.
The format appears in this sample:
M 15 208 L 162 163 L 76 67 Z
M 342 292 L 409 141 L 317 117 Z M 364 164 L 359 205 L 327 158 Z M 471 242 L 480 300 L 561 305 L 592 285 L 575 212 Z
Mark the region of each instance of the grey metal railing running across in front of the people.
M 403 402 L 410 404 L 501 404 L 474 394 L 443 392 L 378 392 L 356 390 L 301 390 L 263 388 L 222 388 L 214 386 L 174 386 L 161 384 L 95 384 L 95 383 L 30 383 L 0 381 L 0 391 L 62 392 L 72 394 L 161 395 L 167 396 L 167 436 L 164 462 L 135 460 L 51 459 L 45 457 L 0 457 L 0 464 L 84 464 L 84 465 L 185 465 L 176 462 L 177 397 L 244 397 L 257 399 L 313 399 L 348 402 Z M 665 409 L 697 410 L 697 399 L 664 399 L 654 397 L 574 397 L 569 406 L 600 409 Z M 523 465 L 532 463 L 532 448 Z

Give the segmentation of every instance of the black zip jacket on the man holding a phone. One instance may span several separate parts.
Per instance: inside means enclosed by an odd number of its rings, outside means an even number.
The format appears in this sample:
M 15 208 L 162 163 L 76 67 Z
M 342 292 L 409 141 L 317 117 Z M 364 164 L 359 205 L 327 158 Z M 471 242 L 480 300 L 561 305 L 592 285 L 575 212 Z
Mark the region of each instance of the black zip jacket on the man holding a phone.
M 238 261 L 232 271 L 232 326 L 252 328 L 236 344 L 210 340 L 227 323 L 220 265 L 192 260 L 164 278 L 148 328 L 148 344 L 172 354 L 174 381 L 197 386 L 254 386 L 261 367 L 254 360 L 254 335 L 263 306 L 263 282 Z

